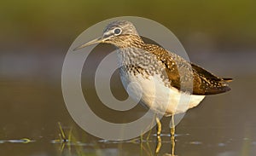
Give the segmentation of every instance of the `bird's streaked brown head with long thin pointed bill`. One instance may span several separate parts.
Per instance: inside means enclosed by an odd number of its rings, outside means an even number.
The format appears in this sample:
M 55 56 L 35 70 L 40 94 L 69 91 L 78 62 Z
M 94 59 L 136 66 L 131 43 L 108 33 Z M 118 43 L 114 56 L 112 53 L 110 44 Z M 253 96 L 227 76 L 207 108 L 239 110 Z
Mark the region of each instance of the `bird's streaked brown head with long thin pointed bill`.
M 108 24 L 100 38 L 84 43 L 74 50 L 82 49 L 95 43 L 111 43 L 119 48 L 130 47 L 143 43 L 142 38 L 137 33 L 135 26 L 127 20 L 117 20 Z

